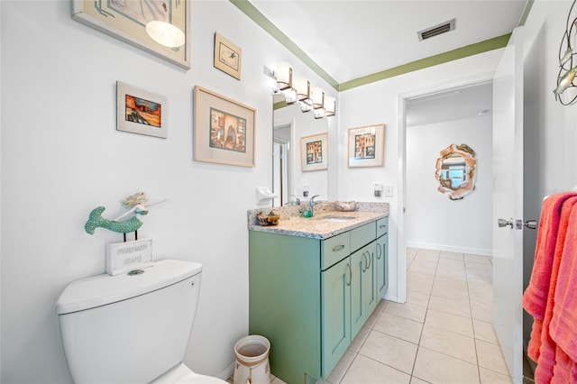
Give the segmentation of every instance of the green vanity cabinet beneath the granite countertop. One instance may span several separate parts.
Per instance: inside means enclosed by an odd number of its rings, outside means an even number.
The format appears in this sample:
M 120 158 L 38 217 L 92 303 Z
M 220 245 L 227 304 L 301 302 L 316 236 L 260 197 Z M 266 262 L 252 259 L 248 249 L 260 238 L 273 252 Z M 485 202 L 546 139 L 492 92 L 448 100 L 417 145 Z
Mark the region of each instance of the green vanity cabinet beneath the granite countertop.
M 377 221 L 328 238 L 249 231 L 249 334 L 270 340 L 270 370 L 325 379 L 380 300 Z

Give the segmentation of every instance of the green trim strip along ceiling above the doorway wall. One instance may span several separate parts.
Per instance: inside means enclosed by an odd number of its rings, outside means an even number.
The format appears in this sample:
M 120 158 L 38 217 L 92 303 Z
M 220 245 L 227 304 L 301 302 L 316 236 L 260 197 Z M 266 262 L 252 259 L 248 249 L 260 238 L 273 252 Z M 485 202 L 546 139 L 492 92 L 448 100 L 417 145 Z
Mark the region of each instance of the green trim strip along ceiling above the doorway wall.
M 385 78 L 394 78 L 395 76 L 403 75 L 408 72 L 413 72 L 419 69 L 426 69 L 428 67 L 433 67 L 435 65 L 443 64 L 445 62 L 453 61 L 456 59 L 463 59 L 468 56 L 476 55 L 489 50 L 498 50 L 507 46 L 508 39 L 511 36 L 510 33 L 498 36 L 489 40 L 476 42 L 471 45 L 466 45 L 456 50 L 449 50 L 444 53 L 439 53 L 438 55 L 431 56 L 425 59 L 419 59 L 416 61 L 409 62 L 407 64 L 385 69 L 372 75 L 367 75 L 362 78 L 355 78 L 350 81 L 341 83 L 339 86 L 339 92 L 343 92 L 347 89 L 354 87 L 361 87 L 376 81 L 384 80 Z

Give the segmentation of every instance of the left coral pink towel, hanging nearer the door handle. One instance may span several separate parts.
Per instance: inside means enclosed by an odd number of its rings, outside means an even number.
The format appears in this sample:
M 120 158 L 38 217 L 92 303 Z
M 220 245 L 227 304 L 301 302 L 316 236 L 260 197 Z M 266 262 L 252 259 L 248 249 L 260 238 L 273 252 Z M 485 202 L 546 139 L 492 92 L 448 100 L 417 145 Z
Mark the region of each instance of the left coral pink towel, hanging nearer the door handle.
M 577 197 L 577 193 L 561 193 L 547 197 L 543 203 L 539 228 L 537 230 L 537 241 L 535 251 L 535 263 L 533 272 L 525 294 L 523 296 L 523 307 L 534 317 L 531 340 L 528 344 L 528 355 L 533 361 L 539 361 L 539 349 L 542 345 L 543 320 L 547 306 L 547 297 L 551 286 L 555 248 L 558 239 L 561 210 L 563 203 L 571 198 Z M 567 202 L 565 206 L 567 222 L 571 212 L 573 201 Z M 566 224 L 564 223 L 565 228 Z M 564 239 L 562 239 L 564 240 Z M 563 248 L 563 241 L 560 241 L 559 256 Z M 554 355 L 554 353 L 552 353 Z

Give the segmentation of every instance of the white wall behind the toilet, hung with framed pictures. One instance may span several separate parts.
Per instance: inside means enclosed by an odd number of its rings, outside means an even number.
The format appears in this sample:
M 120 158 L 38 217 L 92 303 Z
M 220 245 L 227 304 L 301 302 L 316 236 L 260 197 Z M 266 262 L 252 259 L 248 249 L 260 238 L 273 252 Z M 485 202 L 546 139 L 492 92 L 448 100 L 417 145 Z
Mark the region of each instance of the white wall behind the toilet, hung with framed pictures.
M 105 243 L 122 239 L 85 233 L 90 210 L 102 205 L 114 216 L 141 190 L 170 198 L 139 231 L 154 240 L 155 257 L 204 265 L 185 362 L 232 372 L 234 342 L 248 332 L 246 211 L 255 187 L 271 187 L 272 79 L 263 67 L 292 62 L 334 92 L 228 1 L 192 2 L 188 71 L 72 20 L 68 0 L 0 6 L 0 381 L 71 381 L 55 302 L 70 281 L 103 273 Z M 242 81 L 213 67 L 215 32 L 243 49 Z M 168 139 L 115 131 L 117 80 L 168 96 Z M 255 168 L 192 160 L 196 85 L 256 108 Z

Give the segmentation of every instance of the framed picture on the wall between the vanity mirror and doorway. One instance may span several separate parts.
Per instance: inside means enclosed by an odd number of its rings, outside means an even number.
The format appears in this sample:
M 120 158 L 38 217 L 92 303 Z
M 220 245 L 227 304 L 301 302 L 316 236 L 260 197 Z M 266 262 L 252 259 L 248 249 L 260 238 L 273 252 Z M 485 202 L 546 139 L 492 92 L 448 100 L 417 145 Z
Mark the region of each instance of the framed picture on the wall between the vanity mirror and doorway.
M 385 124 L 349 128 L 348 166 L 380 167 L 385 149 Z

